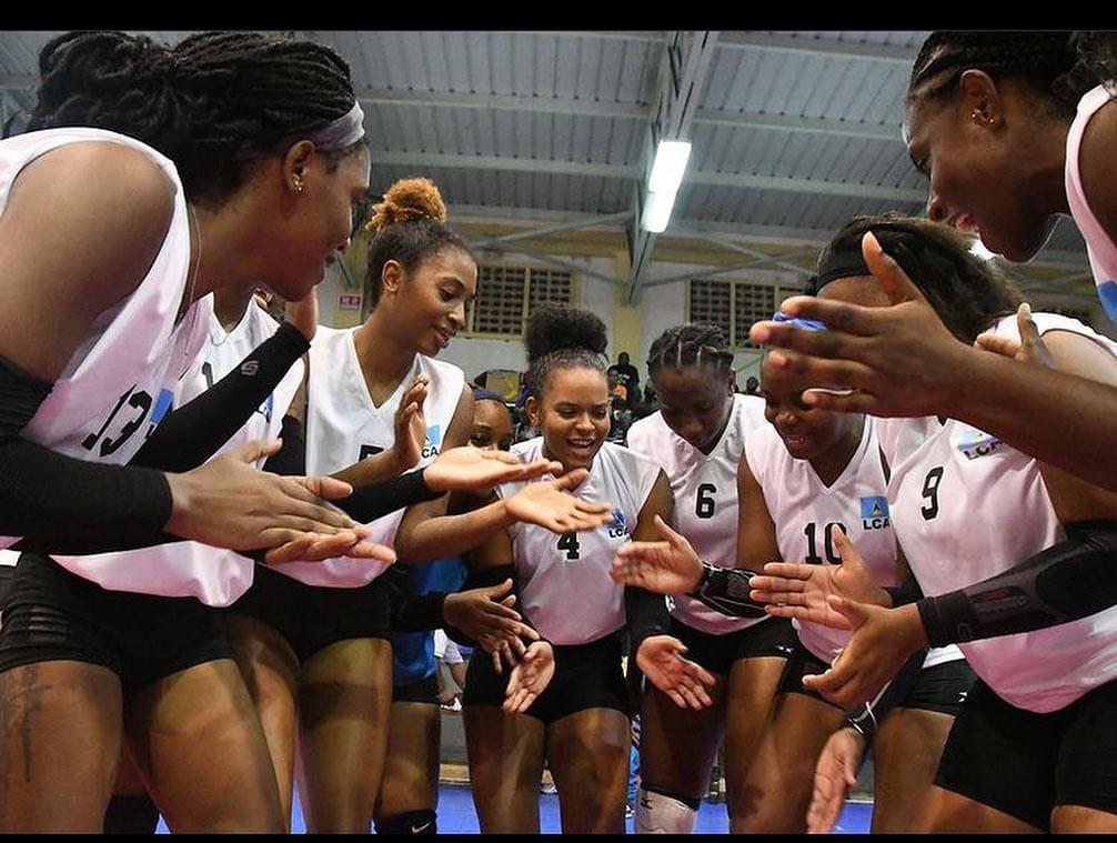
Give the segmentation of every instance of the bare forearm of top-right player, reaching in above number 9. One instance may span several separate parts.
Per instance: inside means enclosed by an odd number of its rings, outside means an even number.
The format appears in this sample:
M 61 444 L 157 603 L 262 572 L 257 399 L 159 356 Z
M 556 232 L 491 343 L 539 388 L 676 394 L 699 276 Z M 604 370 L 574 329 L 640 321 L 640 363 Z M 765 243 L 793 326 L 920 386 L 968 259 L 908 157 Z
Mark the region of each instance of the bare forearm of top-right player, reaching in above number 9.
M 945 395 L 944 414 L 1117 491 L 1117 387 L 974 350 Z

